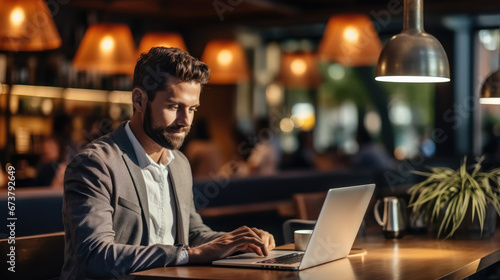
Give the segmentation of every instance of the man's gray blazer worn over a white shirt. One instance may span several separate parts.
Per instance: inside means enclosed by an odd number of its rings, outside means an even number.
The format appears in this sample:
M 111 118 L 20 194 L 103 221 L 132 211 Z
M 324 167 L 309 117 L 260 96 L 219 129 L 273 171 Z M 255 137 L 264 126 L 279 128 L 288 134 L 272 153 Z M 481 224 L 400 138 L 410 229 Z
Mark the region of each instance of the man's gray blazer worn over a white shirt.
M 196 212 L 189 162 L 179 151 L 169 165 L 177 205 L 177 242 L 196 246 L 221 235 Z M 90 143 L 67 166 L 61 279 L 120 278 L 175 265 L 181 246 L 148 246 L 146 185 L 124 124 Z

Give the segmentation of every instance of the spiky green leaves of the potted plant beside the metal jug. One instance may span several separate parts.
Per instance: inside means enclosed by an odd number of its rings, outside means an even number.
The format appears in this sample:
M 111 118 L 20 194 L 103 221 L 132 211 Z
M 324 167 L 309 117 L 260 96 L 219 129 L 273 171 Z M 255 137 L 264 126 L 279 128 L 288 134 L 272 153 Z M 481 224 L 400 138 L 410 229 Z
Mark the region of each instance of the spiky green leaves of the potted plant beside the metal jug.
M 428 224 L 439 225 L 438 238 L 450 238 L 461 225 L 464 227 L 463 224 L 472 222 L 479 223 L 479 235 L 486 237 L 483 228 L 487 220 L 493 222 L 494 231 L 496 214 L 500 215 L 500 168 L 481 171 L 483 160 L 481 157 L 467 166 L 467 158 L 464 158 L 457 170 L 429 167 L 431 172 L 414 171 L 427 178 L 408 190 L 411 194 L 409 207 Z

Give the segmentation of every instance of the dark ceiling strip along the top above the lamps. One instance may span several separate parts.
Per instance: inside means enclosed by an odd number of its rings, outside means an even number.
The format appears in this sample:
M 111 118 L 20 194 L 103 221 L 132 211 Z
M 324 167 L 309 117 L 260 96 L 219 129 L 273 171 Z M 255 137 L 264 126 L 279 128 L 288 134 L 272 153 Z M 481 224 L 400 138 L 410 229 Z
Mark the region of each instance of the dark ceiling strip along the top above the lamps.
M 159 20 L 174 26 L 275 26 L 324 23 L 336 13 L 373 17 L 401 11 L 403 0 L 65 0 L 64 8 L 104 17 Z M 498 0 L 428 0 L 426 16 L 500 13 Z M 401 16 L 399 12 L 395 16 Z

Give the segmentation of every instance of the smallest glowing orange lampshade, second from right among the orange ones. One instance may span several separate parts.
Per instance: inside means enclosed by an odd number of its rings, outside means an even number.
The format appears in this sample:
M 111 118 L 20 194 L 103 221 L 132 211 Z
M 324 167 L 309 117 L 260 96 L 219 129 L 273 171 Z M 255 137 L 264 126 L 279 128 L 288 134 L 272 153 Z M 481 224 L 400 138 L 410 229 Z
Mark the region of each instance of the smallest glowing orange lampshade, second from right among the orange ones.
M 313 53 L 284 53 L 279 80 L 287 88 L 314 88 L 320 83 L 317 56 Z

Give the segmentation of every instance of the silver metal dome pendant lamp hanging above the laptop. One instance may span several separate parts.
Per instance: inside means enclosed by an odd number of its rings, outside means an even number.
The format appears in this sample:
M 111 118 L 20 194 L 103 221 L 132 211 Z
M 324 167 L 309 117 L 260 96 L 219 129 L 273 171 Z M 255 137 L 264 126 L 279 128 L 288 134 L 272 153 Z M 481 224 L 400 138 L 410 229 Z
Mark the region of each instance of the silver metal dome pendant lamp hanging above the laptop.
M 423 0 L 404 1 L 403 31 L 382 49 L 375 80 L 402 83 L 450 81 L 446 52 L 423 29 Z

